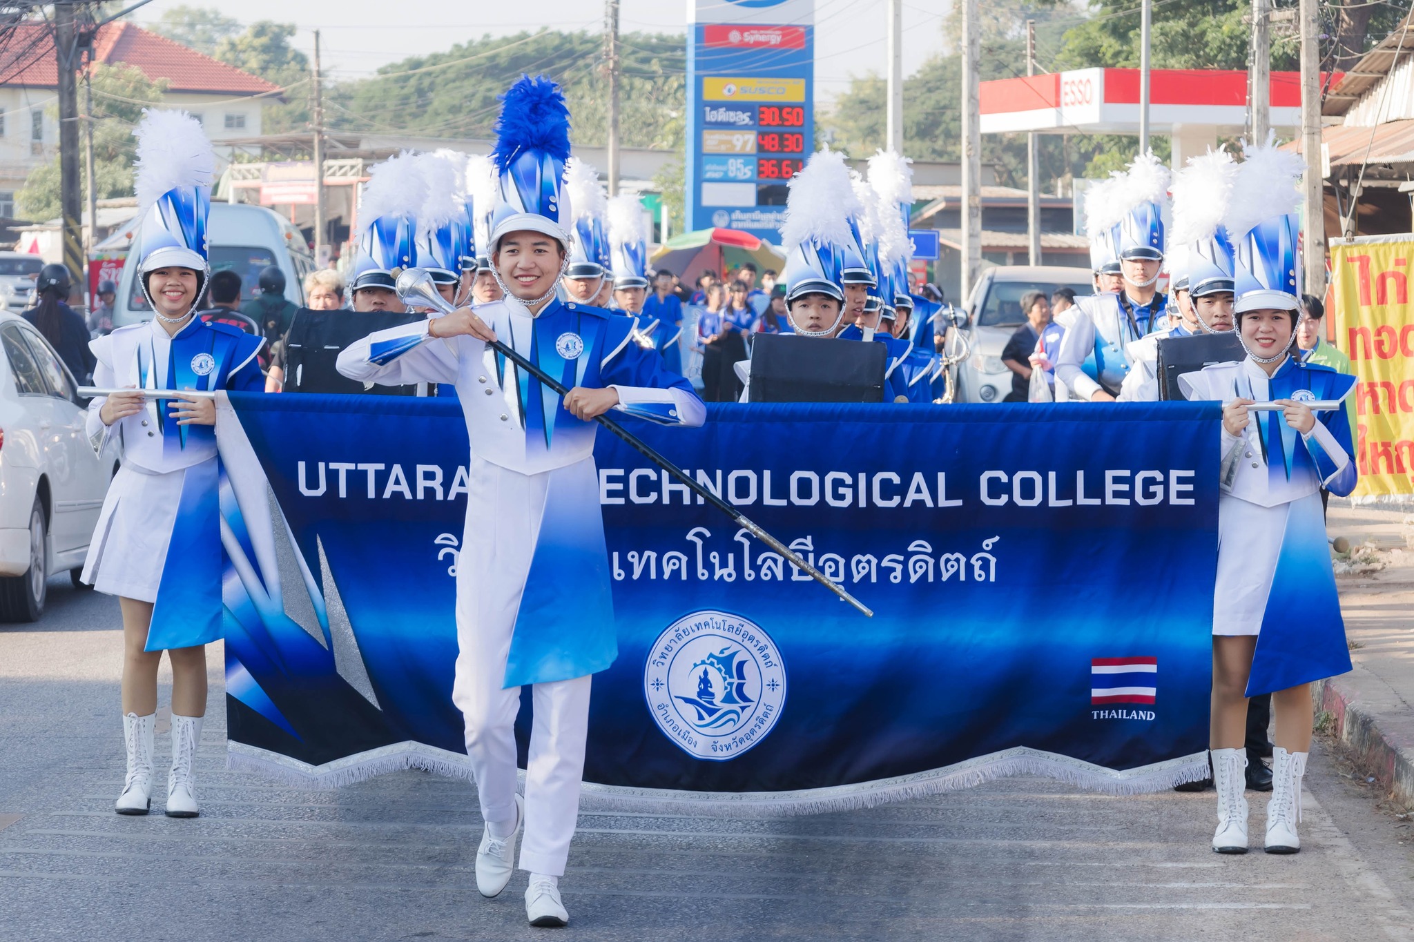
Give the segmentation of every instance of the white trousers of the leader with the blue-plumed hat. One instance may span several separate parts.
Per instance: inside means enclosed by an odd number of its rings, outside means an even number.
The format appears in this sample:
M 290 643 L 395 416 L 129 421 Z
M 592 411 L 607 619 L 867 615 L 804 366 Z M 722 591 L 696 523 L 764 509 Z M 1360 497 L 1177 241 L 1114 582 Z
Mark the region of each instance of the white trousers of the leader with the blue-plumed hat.
M 516 818 L 520 688 L 502 689 L 550 475 L 522 475 L 472 456 L 467 528 L 457 556 L 457 676 L 452 702 L 467 726 L 481 816 Z M 520 869 L 564 874 L 580 813 L 590 676 L 536 684 L 526 763 Z

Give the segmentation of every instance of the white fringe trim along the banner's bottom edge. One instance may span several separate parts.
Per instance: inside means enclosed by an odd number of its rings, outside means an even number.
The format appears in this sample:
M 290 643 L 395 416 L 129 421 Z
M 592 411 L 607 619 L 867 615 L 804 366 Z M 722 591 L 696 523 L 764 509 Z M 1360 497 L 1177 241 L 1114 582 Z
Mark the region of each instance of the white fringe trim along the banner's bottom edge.
M 474 781 L 471 763 L 465 754 L 416 741 L 393 743 L 324 765 L 310 765 L 245 743 L 228 743 L 226 767 L 233 771 L 256 773 L 301 789 L 334 789 L 385 773 L 409 768 L 468 782 Z M 1206 750 L 1138 768 L 1113 770 L 1059 753 L 1018 746 L 926 773 L 800 791 L 694 792 L 584 782 L 580 794 L 580 811 L 587 813 L 626 811 L 646 815 L 703 813 L 728 818 L 772 818 L 875 808 L 949 791 L 976 788 L 993 780 L 1014 775 L 1052 778 L 1104 795 L 1143 795 L 1199 781 L 1208 774 Z M 525 771 L 520 770 L 519 775 L 523 787 Z

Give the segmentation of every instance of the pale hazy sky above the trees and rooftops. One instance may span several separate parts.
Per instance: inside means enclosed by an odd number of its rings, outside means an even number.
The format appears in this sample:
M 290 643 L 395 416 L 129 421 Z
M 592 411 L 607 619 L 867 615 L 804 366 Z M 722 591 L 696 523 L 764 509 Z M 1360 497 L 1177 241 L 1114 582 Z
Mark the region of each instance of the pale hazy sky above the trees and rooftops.
M 153 0 L 133 14 L 156 20 L 181 0 Z M 602 30 L 604 6 L 598 0 L 240 0 L 187 6 L 216 7 L 243 23 L 296 21 L 298 47 L 314 48 L 320 30 L 324 69 L 334 78 L 370 75 L 380 65 L 409 55 L 440 52 L 484 34 L 503 35 L 542 25 L 563 30 Z M 884 0 L 816 0 L 816 95 L 829 99 L 843 90 L 850 75 L 884 72 Z M 622 0 L 624 32 L 684 31 L 686 0 Z M 905 0 L 904 73 L 908 75 L 942 42 L 943 0 Z M 533 16 L 532 16 L 533 14 Z M 392 20 L 392 21 L 390 21 Z

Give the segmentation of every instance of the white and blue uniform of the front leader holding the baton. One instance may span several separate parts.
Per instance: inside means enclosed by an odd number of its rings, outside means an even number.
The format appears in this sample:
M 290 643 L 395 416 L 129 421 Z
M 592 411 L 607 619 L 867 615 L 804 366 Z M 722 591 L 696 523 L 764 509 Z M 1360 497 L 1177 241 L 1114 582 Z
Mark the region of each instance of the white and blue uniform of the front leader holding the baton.
M 687 380 L 667 373 L 656 350 L 631 342 L 636 318 L 556 299 L 532 315 L 510 297 L 479 305 L 477 315 L 498 339 L 564 377 L 566 386 L 612 386 L 625 411 L 662 424 L 701 425 L 706 418 Z M 427 329 L 421 322 L 373 333 L 345 349 L 338 369 L 349 378 L 389 386 L 457 387 L 471 438 L 471 480 L 457 561 L 452 700 L 465 720 L 481 813 L 488 822 L 510 823 L 515 719 L 520 685 L 533 685 L 520 869 L 561 876 L 578 815 L 590 675 L 617 652 L 612 610 L 607 647 L 585 643 L 581 627 L 592 620 L 595 603 L 575 596 L 590 599 L 602 590 L 607 597 L 609 588 L 592 458 L 595 424 L 575 419 L 557 395 L 481 340 L 434 339 Z M 543 552 L 563 551 L 550 544 L 568 551 L 547 556 L 554 565 L 537 569 Z M 557 582 L 573 583 L 577 573 L 588 573 L 588 582 L 561 592 L 553 604 L 532 600 L 554 593 Z M 530 651 L 532 645 L 539 647 Z

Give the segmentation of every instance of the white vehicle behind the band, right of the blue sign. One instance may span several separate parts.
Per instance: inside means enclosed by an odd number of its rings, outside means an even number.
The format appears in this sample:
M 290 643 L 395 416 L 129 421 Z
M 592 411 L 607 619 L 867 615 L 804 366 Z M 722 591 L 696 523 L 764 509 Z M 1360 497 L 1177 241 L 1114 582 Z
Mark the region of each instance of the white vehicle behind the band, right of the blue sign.
M 957 367 L 959 403 L 1000 403 L 1007 398 L 1014 373 L 1001 362 L 1001 352 L 1017 328 L 1027 322 L 1027 315 L 1021 312 L 1021 295 L 1042 291 L 1049 299 L 1056 288 L 1070 288 L 1077 295 L 1092 294 L 1089 270 L 1008 266 L 988 268 L 978 275 L 967 299 L 963 332 L 971 343 L 971 356 Z

